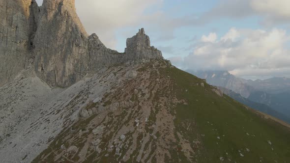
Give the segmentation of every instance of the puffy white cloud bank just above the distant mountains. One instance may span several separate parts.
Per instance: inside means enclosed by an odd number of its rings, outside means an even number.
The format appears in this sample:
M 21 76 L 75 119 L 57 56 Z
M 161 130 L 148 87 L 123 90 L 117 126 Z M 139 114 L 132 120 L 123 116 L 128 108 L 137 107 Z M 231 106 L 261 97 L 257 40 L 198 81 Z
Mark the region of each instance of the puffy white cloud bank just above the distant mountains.
M 203 42 L 202 38 L 183 65 L 194 70 L 228 70 L 237 76 L 289 74 L 290 50 L 285 45 L 289 40 L 282 29 L 232 28 L 215 42 Z

